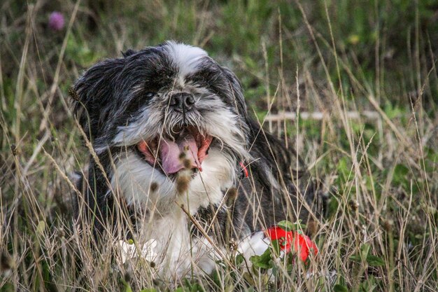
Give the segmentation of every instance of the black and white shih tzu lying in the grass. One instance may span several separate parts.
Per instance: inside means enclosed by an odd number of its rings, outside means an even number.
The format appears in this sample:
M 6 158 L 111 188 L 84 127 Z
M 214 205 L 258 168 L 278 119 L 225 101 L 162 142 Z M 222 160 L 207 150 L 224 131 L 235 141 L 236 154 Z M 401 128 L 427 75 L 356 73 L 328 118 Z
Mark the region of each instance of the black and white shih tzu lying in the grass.
M 250 117 L 236 76 L 201 48 L 128 50 L 87 69 L 72 92 L 93 150 L 81 224 L 153 240 L 164 274 L 211 272 L 230 244 L 309 218 L 315 190 L 293 181 L 295 152 Z

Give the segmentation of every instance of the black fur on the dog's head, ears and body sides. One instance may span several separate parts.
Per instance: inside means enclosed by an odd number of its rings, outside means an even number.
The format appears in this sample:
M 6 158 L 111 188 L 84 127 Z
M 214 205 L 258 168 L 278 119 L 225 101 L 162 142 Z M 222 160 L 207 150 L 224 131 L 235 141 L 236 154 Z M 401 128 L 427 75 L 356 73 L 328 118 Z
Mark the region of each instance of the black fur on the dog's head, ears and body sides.
M 215 218 L 217 232 L 212 230 L 211 234 L 222 244 L 226 244 L 229 237 L 243 237 L 284 219 L 295 221 L 301 218 L 306 221 L 309 213 L 297 202 L 297 196 L 311 203 L 317 190 L 311 185 L 311 188 L 302 192 L 297 191 L 298 187 L 292 181 L 297 174 L 293 169 L 295 165 L 292 165 L 295 151 L 285 148 L 281 141 L 263 132 L 250 118 L 241 84 L 232 71 L 221 67 L 209 57 L 205 57 L 202 62 L 200 69 L 186 76 L 186 80 L 215 93 L 228 109 L 239 116 L 238 123 L 242 125 L 246 143 L 252 145 L 250 154 L 253 161 L 247 167 L 249 177 L 236 183 L 237 194 L 230 206 L 227 209 L 217 205 L 201 208 L 196 218 L 204 222 Z M 73 86 L 75 96 L 79 98 L 73 100 L 74 111 L 99 158 L 96 161 L 90 155 L 87 179 L 80 182 L 83 198 L 78 200 L 78 206 L 85 204 L 86 209 L 82 221 L 93 224 L 94 230 L 98 231 L 96 233 L 105 230 L 106 225 L 114 227 L 115 222 L 120 221 L 115 220 L 119 216 L 122 216 L 122 221 L 135 218 L 134 211 L 129 207 L 124 209 L 126 214 L 119 214 L 114 204 L 114 200 L 118 199 L 111 195 L 107 178 L 111 176 L 113 158 L 125 150 L 125 147 L 114 145 L 112 140 L 118 133 L 118 127 L 132 123 L 148 106 L 154 98 L 148 92 L 160 92 L 172 87 L 176 72 L 175 65 L 169 62 L 165 46 L 162 45 L 138 52 L 127 50 L 121 58 L 99 62 L 85 71 Z M 239 156 L 227 145 L 224 149 Z M 236 159 L 238 161 L 241 158 Z M 238 164 L 235 171 L 241 172 Z M 271 180 L 267 172 L 271 172 Z M 280 188 L 274 188 L 272 179 Z M 254 218 L 254 208 L 259 207 L 262 213 Z M 232 225 L 231 231 L 228 231 L 227 224 Z

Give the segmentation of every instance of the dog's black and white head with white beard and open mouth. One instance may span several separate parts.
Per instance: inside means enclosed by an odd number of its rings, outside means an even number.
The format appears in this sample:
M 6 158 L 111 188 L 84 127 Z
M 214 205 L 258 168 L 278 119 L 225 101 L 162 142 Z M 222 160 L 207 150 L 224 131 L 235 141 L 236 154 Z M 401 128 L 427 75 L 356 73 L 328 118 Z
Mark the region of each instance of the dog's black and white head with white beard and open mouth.
M 190 209 L 216 202 L 249 157 L 239 81 L 200 48 L 128 51 L 95 64 L 74 89 L 80 124 L 98 155 L 111 153 L 111 183 L 128 204 L 165 209 L 182 172 Z

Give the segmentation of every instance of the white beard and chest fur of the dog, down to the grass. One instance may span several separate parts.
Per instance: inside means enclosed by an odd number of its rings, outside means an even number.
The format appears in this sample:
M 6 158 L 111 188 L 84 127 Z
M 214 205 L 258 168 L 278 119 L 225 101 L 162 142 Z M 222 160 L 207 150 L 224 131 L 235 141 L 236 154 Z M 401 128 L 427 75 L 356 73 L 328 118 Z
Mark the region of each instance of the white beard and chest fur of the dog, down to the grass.
M 111 184 L 127 204 L 140 214 L 137 218 L 139 243 L 150 239 L 157 241 L 157 259 L 164 273 L 184 274 L 192 266 L 211 272 L 215 257 L 213 248 L 206 239 L 194 239 L 190 235 L 189 219 L 181 204 L 190 214 L 200 207 L 218 205 L 223 194 L 235 179 L 235 162 L 225 153 L 211 149 L 202 162 L 199 172 L 182 193 L 176 183 L 127 151 L 115 160 Z M 151 186 L 157 186 L 152 188 Z

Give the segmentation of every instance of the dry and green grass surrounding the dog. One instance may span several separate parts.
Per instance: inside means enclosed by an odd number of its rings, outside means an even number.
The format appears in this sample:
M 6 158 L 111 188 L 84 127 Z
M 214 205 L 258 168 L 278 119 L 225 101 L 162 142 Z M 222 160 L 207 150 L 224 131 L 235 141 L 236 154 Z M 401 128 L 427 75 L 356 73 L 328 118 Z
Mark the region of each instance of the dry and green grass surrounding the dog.
M 61 32 L 47 26 L 55 10 Z M 0 11 L 0 291 L 436 291 L 435 1 L 6 0 Z M 78 236 L 68 176 L 87 149 L 68 88 L 101 58 L 167 39 L 232 68 L 265 130 L 332 190 L 309 268 L 275 265 L 269 278 L 223 264 L 169 282 Z M 283 111 L 299 118 L 269 118 Z

